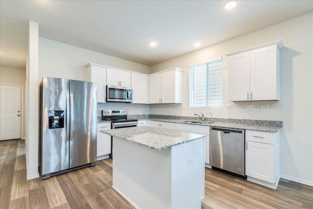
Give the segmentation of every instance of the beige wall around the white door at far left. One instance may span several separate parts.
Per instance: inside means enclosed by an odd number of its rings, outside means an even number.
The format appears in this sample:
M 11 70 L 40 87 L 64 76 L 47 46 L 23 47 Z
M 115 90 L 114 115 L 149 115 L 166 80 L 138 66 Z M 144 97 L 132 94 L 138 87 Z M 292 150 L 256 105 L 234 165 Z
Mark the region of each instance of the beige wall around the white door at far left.
M 10 67 L 10 66 L 4 66 L 1 65 L 0 66 L 0 83 L 1 84 L 17 84 L 17 85 L 21 85 L 23 87 L 23 110 L 22 110 L 22 114 L 26 113 L 26 69 L 25 68 L 16 68 L 16 67 Z M 21 138 L 25 138 L 26 136 L 26 127 L 25 127 L 25 120 L 26 117 L 23 117 L 23 127 L 22 130 L 23 132 L 21 133 Z

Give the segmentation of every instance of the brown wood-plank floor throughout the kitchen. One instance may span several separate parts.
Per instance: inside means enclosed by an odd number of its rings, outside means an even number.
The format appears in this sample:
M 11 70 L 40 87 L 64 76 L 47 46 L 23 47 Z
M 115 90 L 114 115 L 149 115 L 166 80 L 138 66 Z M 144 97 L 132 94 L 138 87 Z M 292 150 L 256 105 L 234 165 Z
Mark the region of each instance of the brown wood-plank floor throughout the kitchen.
M 0 141 L 0 209 L 133 209 L 112 188 L 112 159 L 42 181 L 26 180 L 24 140 Z M 153 206 L 152 206 L 153 207 Z M 202 209 L 313 209 L 313 187 L 281 179 L 276 190 L 205 169 Z

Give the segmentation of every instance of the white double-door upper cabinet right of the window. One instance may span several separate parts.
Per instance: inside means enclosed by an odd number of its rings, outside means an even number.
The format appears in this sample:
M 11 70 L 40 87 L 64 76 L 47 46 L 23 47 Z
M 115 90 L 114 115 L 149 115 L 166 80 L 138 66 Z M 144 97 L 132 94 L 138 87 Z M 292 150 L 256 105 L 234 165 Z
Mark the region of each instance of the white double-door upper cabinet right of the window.
M 281 40 L 229 56 L 229 101 L 279 100 Z

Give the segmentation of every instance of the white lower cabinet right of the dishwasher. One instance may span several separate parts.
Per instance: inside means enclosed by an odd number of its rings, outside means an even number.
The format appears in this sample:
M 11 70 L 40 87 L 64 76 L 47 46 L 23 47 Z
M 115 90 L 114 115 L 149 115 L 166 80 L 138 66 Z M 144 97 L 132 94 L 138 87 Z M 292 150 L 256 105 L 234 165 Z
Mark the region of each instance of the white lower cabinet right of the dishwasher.
M 246 131 L 246 176 L 264 186 L 279 182 L 279 132 Z

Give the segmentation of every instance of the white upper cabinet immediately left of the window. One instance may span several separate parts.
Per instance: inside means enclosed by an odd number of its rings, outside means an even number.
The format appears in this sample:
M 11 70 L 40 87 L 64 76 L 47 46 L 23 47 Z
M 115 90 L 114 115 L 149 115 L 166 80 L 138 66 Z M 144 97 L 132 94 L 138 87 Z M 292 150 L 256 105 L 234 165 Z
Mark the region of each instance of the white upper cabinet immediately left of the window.
M 182 102 L 182 71 L 173 68 L 149 75 L 150 104 Z

